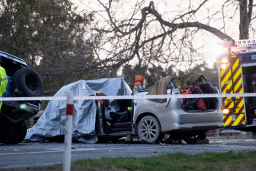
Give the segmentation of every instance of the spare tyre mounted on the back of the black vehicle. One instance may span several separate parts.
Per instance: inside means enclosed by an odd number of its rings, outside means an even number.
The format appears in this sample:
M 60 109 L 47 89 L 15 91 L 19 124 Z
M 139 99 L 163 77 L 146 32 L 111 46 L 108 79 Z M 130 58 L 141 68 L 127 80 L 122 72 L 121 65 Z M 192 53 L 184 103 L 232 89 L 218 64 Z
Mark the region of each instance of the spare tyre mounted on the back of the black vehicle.
M 31 68 L 21 68 L 12 77 L 15 95 L 42 96 L 44 87 L 41 77 Z

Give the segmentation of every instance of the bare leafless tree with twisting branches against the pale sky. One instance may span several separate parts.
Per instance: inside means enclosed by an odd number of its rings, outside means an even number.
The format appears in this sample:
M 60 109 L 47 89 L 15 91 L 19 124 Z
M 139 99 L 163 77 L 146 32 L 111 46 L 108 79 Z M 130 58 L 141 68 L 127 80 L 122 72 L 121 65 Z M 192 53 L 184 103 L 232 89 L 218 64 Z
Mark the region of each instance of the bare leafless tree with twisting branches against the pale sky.
M 97 2 L 97 8 L 87 6 L 98 14 L 94 50 L 102 66 L 113 71 L 135 64 L 187 67 L 206 56 L 208 37 L 232 41 L 256 32 L 253 0 Z

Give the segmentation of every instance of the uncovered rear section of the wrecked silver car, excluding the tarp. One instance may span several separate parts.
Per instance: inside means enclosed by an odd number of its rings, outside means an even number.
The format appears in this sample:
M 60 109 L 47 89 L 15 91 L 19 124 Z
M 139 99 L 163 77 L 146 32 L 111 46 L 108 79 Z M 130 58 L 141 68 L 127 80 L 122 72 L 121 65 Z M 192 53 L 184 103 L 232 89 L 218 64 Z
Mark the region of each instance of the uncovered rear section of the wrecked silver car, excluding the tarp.
M 164 77 L 146 87 L 136 75 L 134 95 L 217 94 L 204 75 Z M 96 130 L 99 140 L 115 140 L 124 135 L 138 136 L 145 143 L 157 142 L 170 134 L 176 140 L 205 140 L 211 129 L 224 126 L 219 98 L 118 99 L 111 108 L 108 100 L 99 102 Z

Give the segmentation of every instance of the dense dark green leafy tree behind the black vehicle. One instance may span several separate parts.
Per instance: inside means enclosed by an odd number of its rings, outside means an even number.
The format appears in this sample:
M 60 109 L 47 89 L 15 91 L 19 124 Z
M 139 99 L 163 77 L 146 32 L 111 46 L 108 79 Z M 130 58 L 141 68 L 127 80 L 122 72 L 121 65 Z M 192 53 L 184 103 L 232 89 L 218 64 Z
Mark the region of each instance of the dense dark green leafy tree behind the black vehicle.
M 23 58 L 45 83 L 45 95 L 74 80 L 92 77 L 91 15 L 78 14 L 70 0 L 0 2 L 0 47 Z

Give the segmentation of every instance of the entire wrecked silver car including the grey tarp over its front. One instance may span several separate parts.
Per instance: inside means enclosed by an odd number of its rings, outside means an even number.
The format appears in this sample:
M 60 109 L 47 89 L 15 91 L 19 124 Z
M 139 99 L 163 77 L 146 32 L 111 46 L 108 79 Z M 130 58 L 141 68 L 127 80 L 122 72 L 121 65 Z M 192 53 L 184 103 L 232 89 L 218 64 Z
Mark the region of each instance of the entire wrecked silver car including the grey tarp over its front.
M 137 76 L 134 95 L 218 93 L 203 75 L 190 77 L 188 85 L 180 77 L 164 77 L 149 88 L 143 78 Z M 56 96 L 63 96 L 70 90 L 75 96 L 131 94 L 121 78 L 80 80 L 61 88 Z M 152 143 L 162 139 L 164 134 L 189 142 L 204 140 L 208 130 L 224 126 L 218 98 L 85 100 L 75 101 L 74 108 L 72 137 L 86 143 L 118 140 L 124 136 L 129 139 L 137 136 L 142 142 Z M 50 102 L 25 140 L 52 140 L 63 136 L 64 116 L 65 103 Z

